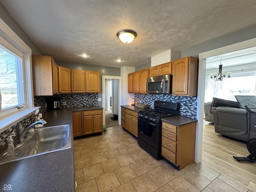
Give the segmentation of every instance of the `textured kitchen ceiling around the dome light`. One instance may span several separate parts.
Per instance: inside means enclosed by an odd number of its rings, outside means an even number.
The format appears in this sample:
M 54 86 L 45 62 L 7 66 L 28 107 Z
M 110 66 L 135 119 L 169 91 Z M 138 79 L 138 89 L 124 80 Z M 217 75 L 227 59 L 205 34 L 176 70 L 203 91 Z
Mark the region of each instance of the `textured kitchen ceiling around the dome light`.
M 256 25 L 255 0 L 0 2 L 42 54 L 112 67 L 148 64 L 166 50 L 182 51 Z M 132 29 L 137 37 L 124 44 L 116 36 L 121 29 Z

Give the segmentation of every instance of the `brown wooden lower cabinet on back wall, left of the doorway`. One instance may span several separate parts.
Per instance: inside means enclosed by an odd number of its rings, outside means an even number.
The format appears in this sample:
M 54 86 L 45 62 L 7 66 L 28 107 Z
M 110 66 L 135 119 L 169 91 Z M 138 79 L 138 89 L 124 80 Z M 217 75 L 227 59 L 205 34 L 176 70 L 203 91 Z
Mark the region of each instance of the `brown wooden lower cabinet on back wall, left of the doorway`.
M 102 132 L 102 110 L 73 112 L 74 137 L 99 132 Z

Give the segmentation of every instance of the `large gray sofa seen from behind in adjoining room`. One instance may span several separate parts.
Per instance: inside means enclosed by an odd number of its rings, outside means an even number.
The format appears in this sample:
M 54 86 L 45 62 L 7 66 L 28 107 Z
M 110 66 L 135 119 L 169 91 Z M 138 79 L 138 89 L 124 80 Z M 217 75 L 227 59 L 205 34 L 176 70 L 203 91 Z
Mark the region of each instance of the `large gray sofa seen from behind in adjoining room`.
M 251 114 L 251 122 L 246 109 L 218 106 L 212 108 L 212 114 L 216 133 L 247 141 L 251 128 L 250 138 L 256 138 L 256 114 Z

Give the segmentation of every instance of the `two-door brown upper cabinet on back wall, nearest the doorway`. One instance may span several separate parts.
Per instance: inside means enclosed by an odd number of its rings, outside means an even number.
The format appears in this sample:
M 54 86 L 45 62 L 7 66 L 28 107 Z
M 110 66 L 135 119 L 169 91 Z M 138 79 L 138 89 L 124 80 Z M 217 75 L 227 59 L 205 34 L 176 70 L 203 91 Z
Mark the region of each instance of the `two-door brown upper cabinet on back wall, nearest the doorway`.
M 72 93 L 99 93 L 100 72 L 86 70 L 71 70 Z

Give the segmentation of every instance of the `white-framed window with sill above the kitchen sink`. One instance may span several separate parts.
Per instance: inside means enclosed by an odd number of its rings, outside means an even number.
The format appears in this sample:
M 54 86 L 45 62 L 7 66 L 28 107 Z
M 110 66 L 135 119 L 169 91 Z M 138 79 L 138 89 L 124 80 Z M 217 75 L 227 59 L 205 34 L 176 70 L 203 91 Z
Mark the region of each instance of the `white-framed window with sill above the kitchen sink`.
M 34 107 L 31 49 L 0 18 L 0 133 L 17 124 Z

